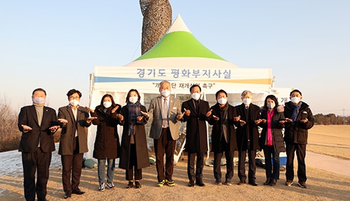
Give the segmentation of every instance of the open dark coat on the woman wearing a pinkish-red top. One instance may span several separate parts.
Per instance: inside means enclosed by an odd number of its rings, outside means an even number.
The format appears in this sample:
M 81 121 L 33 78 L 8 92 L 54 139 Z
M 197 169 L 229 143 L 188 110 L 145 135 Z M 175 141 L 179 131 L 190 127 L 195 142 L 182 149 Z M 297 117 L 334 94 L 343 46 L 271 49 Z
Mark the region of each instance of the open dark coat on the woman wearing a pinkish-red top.
M 261 148 L 267 143 L 267 110 L 261 110 L 261 119 L 265 119 L 265 123 L 260 123 L 259 126 L 262 128 L 260 135 L 260 146 Z M 284 128 L 284 124 L 279 124 L 279 121 L 283 121 L 284 114 L 283 112 L 277 112 L 277 109 L 274 108 L 274 115 L 272 116 L 271 122 L 271 130 L 272 130 L 272 145 L 274 146 L 274 152 L 284 152 L 286 151 L 286 147 L 283 142 L 283 133 L 282 128 Z

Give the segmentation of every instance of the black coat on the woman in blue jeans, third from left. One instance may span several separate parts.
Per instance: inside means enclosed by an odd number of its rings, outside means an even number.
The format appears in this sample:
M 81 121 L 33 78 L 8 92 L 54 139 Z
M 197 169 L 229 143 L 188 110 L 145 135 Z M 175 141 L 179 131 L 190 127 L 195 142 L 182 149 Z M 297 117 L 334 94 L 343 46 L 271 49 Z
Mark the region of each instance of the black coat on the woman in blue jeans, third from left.
M 119 157 L 119 135 L 118 124 L 124 124 L 123 121 L 117 118 L 120 113 L 121 106 L 118 106 L 116 112 L 111 112 L 113 107 L 107 108 L 104 112 L 104 107 L 99 105 L 94 112 L 91 112 L 91 117 L 97 117 L 92 121 L 92 124 L 97 125 L 96 139 L 94 140 L 94 154 L 93 157 L 97 159 L 112 159 Z

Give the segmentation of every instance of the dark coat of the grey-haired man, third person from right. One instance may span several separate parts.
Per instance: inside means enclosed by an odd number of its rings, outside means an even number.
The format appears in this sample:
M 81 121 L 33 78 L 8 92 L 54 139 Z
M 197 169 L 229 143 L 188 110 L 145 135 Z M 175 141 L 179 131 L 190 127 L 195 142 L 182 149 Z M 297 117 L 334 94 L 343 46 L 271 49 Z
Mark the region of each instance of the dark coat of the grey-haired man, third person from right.
M 243 103 L 236 107 L 237 115 L 241 116 L 241 120 L 246 121 L 246 124 L 241 126 L 238 124 L 236 129 L 237 133 L 237 145 L 238 151 L 244 151 L 248 149 L 247 144 L 249 143 L 249 150 L 260 149 L 259 144 L 259 131 L 258 126 L 255 124 L 255 120 L 260 119 L 260 107 L 251 103 L 248 107 L 249 118 L 246 117 L 246 105 Z M 249 135 L 249 142 L 248 136 Z

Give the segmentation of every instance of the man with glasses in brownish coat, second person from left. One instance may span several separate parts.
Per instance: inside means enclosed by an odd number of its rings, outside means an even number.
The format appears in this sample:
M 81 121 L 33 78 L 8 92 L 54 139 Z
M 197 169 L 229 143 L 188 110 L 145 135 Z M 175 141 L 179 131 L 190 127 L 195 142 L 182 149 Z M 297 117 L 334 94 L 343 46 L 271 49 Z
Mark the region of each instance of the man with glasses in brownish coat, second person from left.
M 64 198 L 70 198 L 71 193 L 82 195 L 80 191 L 80 174 L 83 168 L 83 154 L 87 149 L 87 127 L 93 119 L 89 111 L 80 107 L 80 91 L 71 89 L 66 94 L 69 105 L 59 107 L 58 120 L 63 124 L 58 154 L 62 161 L 62 184 Z

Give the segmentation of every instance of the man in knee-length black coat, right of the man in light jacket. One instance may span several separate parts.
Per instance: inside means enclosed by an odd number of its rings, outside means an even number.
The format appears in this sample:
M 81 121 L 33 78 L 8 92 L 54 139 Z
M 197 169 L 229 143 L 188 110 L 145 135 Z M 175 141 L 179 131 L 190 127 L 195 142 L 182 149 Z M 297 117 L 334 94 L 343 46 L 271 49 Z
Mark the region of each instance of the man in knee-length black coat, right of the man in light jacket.
M 201 88 L 194 84 L 190 87 L 191 99 L 182 103 L 182 121 L 186 123 L 185 151 L 188 152 L 188 186 L 205 186 L 203 182 L 204 152 L 208 151 L 207 124 L 209 103 L 200 99 Z M 197 164 L 195 172 L 195 156 Z

